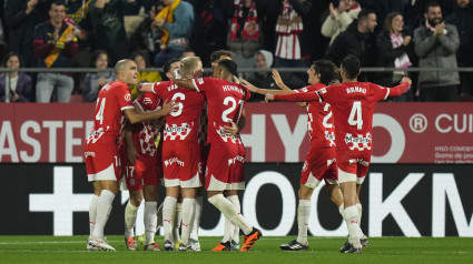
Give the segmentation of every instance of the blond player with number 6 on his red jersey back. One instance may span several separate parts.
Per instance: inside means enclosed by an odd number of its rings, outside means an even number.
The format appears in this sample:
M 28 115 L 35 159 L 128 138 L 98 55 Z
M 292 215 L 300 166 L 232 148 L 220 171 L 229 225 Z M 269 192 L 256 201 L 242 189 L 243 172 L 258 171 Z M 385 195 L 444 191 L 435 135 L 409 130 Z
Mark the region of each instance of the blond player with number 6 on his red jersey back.
M 180 61 L 179 72 L 184 78 L 201 78 L 203 64 L 198 57 Z M 149 90 L 141 85 L 141 91 Z M 176 203 L 183 195 L 181 243 L 179 251 L 196 251 L 189 237 L 196 207 L 196 192 L 203 181 L 200 145 L 198 143 L 199 119 L 205 97 L 201 93 L 179 88 L 173 81 L 151 84 L 151 90 L 162 100 L 175 100 L 178 109 L 166 116 L 162 144 L 166 199 L 162 207 L 165 248 L 173 248 L 170 237 L 175 220 Z

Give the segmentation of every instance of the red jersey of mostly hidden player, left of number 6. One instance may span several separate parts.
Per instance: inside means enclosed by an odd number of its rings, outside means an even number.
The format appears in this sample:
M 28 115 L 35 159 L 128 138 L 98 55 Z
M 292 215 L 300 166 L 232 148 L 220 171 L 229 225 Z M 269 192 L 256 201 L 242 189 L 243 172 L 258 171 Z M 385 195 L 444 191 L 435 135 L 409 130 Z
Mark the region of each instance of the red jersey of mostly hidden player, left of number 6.
M 142 112 L 155 111 L 161 109 L 161 100 L 154 93 L 145 93 L 135 100 L 135 104 L 141 109 Z M 138 153 L 155 156 L 156 155 L 156 136 L 159 130 L 156 129 L 150 122 L 142 122 L 132 125 L 134 142 L 137 142 Z

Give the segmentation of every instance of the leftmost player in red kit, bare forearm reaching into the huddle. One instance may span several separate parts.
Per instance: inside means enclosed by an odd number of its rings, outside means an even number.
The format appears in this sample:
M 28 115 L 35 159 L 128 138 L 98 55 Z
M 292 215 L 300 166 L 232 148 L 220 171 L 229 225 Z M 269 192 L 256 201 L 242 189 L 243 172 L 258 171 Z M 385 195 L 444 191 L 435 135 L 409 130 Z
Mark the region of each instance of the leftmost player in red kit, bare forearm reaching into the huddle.
M 125 121 L 139 123 L 159 119 L 173 112 L 175 103 L 164 103 L 161 110 L 141 113 L 131 102 L 129 85 L 136 84 L 137 65 L 131 60 L 120 60 L 115 65 L 118 81 L 107 83 L 99 92 L 95 111 L 93 130 L 85 141 L 85 159 L 89 182 L 95 196 L 89 206 L 89 250 L 115 251 L 104 238 L 104 227 L 111 203 L 119 191 L 120 158 Z

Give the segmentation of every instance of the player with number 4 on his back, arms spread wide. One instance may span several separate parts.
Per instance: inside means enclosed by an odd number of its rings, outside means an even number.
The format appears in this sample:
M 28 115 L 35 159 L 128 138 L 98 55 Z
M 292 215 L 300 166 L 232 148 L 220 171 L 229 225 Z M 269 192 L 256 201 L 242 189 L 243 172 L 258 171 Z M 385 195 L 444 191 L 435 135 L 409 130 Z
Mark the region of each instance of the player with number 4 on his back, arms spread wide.
M 354 55 L 342 61 L 343 83 L 333 84 L 312 93 L 267 94 L 268 100 L 321 101 L 332 105 L 335 121 L 338 182 L 344 196 L 343 216 L 348 227 L 348 242 L 343 253 L 361 253 L 363 232 L 359 227 L 362 204 L 359 191 L 367 175 L 372 154 L 372 123 L 374 106 L 387 97 L 400 97 L 412 83 L 403 78 L 394 88 L 358 82 L 361 63 Z

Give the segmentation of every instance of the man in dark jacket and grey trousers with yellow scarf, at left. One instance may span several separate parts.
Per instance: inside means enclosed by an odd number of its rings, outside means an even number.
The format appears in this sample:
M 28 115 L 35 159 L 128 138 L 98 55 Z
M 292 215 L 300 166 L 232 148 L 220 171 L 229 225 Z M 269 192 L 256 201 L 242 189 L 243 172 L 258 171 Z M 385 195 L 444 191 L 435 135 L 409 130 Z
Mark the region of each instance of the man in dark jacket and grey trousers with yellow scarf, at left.
M 71 59 L 77 54 L 77 38 L 72 26 L 63 22 L 66 4 L 53 1 L 49 9 L 50 20 L 39 24 L 35 30 L 35 54 L 39 68 L 69 68 Z M 67 103 L 73 89 L 70 74 L 41 72 L 36 84 L 37 102 L 51 101 L 52 92 L 57 89 L 58 102 Z

